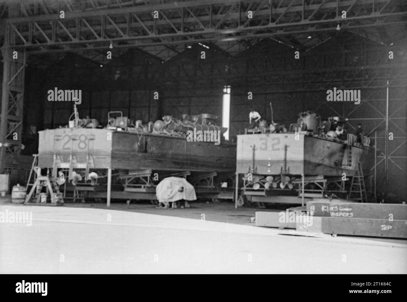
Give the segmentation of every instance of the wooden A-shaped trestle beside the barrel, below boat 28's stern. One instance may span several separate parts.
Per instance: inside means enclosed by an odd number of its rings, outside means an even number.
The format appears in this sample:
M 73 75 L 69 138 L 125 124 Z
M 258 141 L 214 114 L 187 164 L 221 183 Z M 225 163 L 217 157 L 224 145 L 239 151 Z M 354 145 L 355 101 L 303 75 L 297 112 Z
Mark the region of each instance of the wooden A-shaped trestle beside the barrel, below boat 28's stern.
M 51 203 L 41 203 L 41 191 L 43 188 L 46 188 L 47 197 L 50 194 Z M 34 194 L 35 191 L 35 194 Z M 33 196 L 34 195 L 34 196 Z M 33 197 L 35 203 L 31 202 L 31 198 Z M 63 196 L 62 193 L 59 191 L 59 186 L 57 183 L 57 179 L 55 177 L 49 176 L 37 176 L 33 187 L 31 188 L 30 192 L 27 194 L 24 204 L 34 204 L 34 205 L 63 205 Z

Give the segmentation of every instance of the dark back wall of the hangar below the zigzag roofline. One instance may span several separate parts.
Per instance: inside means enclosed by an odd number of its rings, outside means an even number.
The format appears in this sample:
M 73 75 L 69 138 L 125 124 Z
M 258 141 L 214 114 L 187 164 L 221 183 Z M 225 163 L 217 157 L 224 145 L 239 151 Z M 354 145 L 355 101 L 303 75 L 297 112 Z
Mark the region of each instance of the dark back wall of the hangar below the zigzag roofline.
M 375 66 L 389 63 L 387 48 L 368 39 L 346 36 L 341 31 L 335 39 L 308 52 L 300 50 L 298 60 L 294 59 L 295 49 L 269 39 L 248 45 L 247 50 L 234 57 L 216 45 L 210 45 L 210 49 L 193 45 L 164 64 L 142 50 L 129 50 L 103 68 L 79 56 L 67 55 L 46 73 L 31 74 L 30 78 L 42 82 L 26 81 L 25 106 L 36 109 L 37 114 L 29 117 L 25 114 L 25 122 L 36 124 L 39 129 L 68 123 L 72 104 L 46 100 L 47 90 L 58 87 L 82 89 L 83 104 L 78 106 L 81 117 L 90 115 L 102 124 L 107 122 L 109 110 L 122 110 L 125 116 L 143 123 L 167 114 L 179 118 L 182 114 L 212 113 L 219 117 L 221 124 L 223 86 L 230 85 L 231 139 L 244 132 L 252 109 L 271 122 L 271 101 L 274 121 L 287 127 L 306 110 L 315 111 L 323 118 L 347 117 L 350 131 L 361 122 L 371 140 L 376 133 L 374 143 L 382 156 L 388 139 L 383 119 L 385 80 L 390 78 L 389 132 L 395 138 L 389 141 L 389 153 L 394 156 L 389 159 L 389 169 L 394 174 L 392 177 L 405 183 L 407 89 L 406 69 L 401 66 L 405 66 L 407 58 L 403 54 L 405 47 L 394 50 L 393 63 L 400 68 L 386 69 L 387 74 L 381 72 Z M 201 50 L 206 51 L 204 60 L 200 58 Z M 394 78 L 393 74 L 400 76 Z M 333 87 L 361 89 L 361 104 L 326 101 L 326 91 Z M 158 100 L 153 98 L 155 91 L 159 92 Z M 247 99 L 249 91 L 253 93 L 251 100 Z M 383 162 L 378 169 L 382 175 Z M 379 185 L 382 190 L 382 179 L 378 180 Z M 407 197 L 405 186 L 393 186 L 390 191 Z

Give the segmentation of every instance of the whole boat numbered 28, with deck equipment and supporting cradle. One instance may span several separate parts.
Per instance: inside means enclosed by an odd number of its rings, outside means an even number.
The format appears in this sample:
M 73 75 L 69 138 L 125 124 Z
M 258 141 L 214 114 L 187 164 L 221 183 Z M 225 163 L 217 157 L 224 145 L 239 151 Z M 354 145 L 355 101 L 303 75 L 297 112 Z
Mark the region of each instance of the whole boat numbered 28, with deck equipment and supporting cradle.
M 224 141 L 227 129 L 216 119 L 184 114 L 143 125 L 109 112 L 107 127 L 101 127 L 96 120 L 79 119 L 75 108 L 69 127 L 39 132 L 37 166 L 54 179 L 63 173 L 64 190 L 68 184 L 75 194 L 107 197 L 108 203 L 110 197 L 155 200 L 155 186 L 168 176 L 186 177 L 198 196 L 233 198 L 236 145 Z M 188 131 L 202 131 L 208 139 L 187 140 Z M 209 141 L 214 132 L 219 142 Z M 223 182 L 230 192 L 219 189 Z

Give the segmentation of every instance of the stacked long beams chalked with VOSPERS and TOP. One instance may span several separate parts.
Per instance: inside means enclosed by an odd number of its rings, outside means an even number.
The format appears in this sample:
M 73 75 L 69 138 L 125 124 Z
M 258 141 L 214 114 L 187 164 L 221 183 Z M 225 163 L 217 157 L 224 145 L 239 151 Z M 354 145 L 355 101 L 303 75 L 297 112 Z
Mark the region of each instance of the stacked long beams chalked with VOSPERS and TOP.
M 312 223 L 297 222 L 297 231 L 337 235 L 407 238 L 407 205 L 309 201 Z

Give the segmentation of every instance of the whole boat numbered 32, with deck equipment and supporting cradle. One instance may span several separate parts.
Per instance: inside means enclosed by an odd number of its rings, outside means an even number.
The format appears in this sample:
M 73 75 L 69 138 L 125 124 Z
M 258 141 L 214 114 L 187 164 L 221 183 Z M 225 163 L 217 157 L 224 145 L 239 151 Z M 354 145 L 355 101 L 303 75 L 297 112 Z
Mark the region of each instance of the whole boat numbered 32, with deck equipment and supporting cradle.
M 238 199 L 236 187 L 236 206 L 304 203 L 313 197 L 366 201 L 365 176 L 372 176 L 374 162 L 370 140 L 362 135 L 358 142 L 342 132 L 343 126 L 339 132 L 328 131 L 337 120 L 321 121 L 313 112 L 302 112 L 288 130 L 263 123 L 238 135 L 236 181 L 242 194 Z

